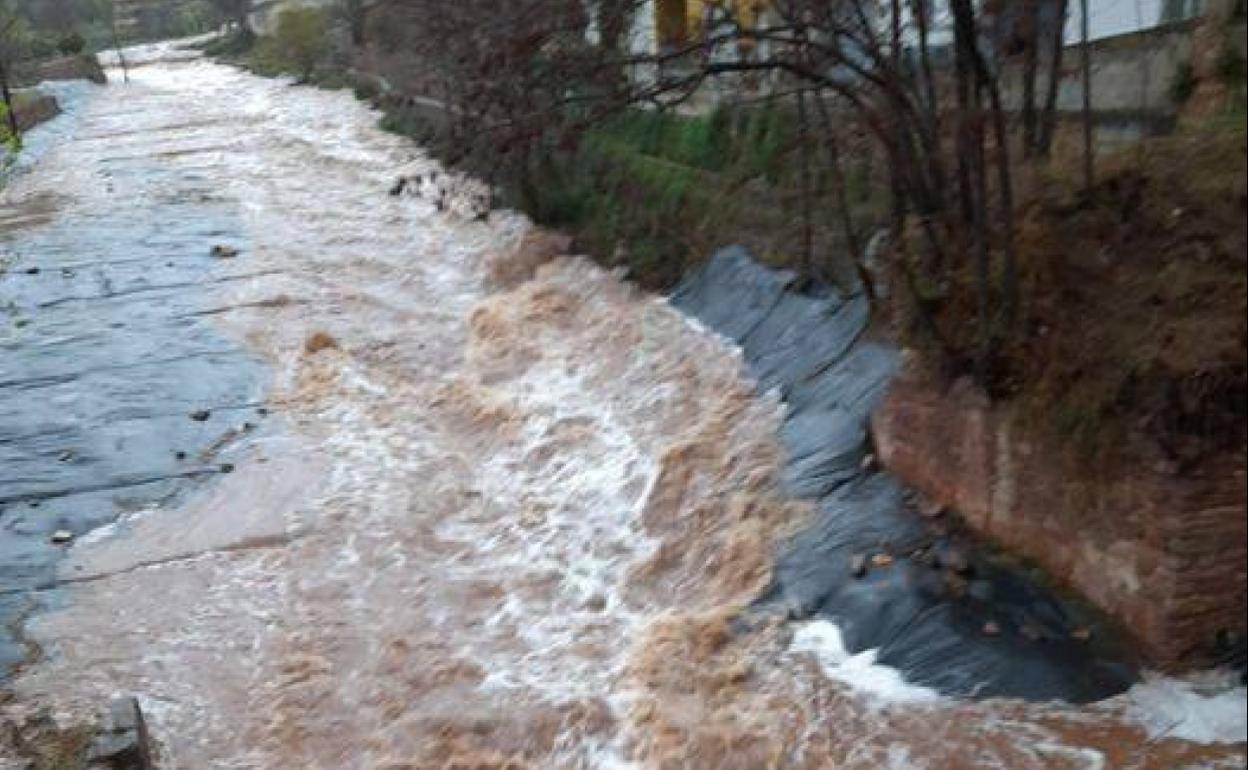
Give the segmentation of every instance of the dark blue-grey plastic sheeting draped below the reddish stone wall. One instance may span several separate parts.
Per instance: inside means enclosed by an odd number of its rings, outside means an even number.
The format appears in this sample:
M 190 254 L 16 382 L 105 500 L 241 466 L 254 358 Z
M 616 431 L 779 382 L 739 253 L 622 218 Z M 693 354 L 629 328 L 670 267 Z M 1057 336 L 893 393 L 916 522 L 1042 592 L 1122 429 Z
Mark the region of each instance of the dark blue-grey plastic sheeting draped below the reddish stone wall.
M 877 649 L 907 681 L 947 694 L 1082 703 L 1127 689 L 1131 658 L 1073 633 L 1097 623 L 1087 609 L 956 542 L 934 522 L 942 508 L 876 469 L 867 424 L 896 353 L 865 338 L 864 297 L 795 285 L 730 247 L 673 296 L 789 407 L 785 485 L 816 518 L 782 549 L 760 604 L 826 616 L 850 650 Z

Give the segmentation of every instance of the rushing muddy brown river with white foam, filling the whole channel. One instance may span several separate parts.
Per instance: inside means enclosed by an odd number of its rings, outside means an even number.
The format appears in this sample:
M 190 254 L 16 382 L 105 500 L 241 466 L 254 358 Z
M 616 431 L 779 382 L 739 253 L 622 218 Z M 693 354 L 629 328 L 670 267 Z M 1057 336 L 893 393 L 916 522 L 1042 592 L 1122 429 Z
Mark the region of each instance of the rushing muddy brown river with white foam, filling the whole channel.
M 1244 768 L 1244 690 L 1217 676 L 962 701 L 825 620 L 743 633 L 810 512 L 739 353 L 584 260 L 497 286 L 527 222 L 388 196 L 434 165 L 349 94 L 167 52 L 82 96 L 5 192 L 5 236 L 57 280 L 111 261 L 166 286 L 74 353 L 166 374 L 136 391 L 146 433 L 75 423 L 86 454 L 172 474 L 178 447 L 206 473 L 225 451 L 232 473 L 99 514 L 121 518 L 36 592 L 11 714 L 132 693 L 162 765 L 192 769 Z M 0 288 L 36 277 L 15 265 Z M 84 313 L 25 344 L 97 334 Z M 161 363 L 183 348 L 191 369 Z

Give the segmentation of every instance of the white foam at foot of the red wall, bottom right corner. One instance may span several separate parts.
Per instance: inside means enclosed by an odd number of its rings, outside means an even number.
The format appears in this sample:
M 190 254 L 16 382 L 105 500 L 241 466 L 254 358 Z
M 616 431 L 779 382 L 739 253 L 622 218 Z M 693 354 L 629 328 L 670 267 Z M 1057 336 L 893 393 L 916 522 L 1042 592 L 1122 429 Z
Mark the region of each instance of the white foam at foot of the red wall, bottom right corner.
M 1238 674 L 1206 671 L 1173 678 L 1147 674 L 1127 691 L 1127 715 L 1149 738 L 1179 738 L 1199 744 L 1248 741 L 1248 688 Z

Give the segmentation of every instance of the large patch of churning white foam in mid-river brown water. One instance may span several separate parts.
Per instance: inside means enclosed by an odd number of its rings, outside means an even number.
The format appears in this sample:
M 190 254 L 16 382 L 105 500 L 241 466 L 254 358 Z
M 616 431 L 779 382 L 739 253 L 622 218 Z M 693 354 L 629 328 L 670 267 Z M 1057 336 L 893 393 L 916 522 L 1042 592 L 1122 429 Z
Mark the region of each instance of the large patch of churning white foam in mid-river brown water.
M 655 470 L 610 412 L 587 401 L 590 391 L 579 377 L 535 367 L 503 392 L 525 422 L 515 444 L 485 462 L 479 484 L 485 499 L 510 513 L 447 522 L 439 534 L 473 544 L 457 572 L 560 579 L 539 599 L 508 595 L 489 619 L 488 626 L 514 628 L 530 651 L 519 659 L 487 656 L 490 674 L 483 686 L 524 686 L 553 699 L 595 695 L 620 661 L 565 654 L 587 631 L 600 634 L 603 624 L 626 638 L 641 619 L 620 589 L 629 565 L 655 547 L 638 523 Z M 533 454 L 568 423 L 592 426 L 585 446 L 534 463 Z M 638 478 L 645 492 L 634 499 L 628 489 Z M 527 504 L 542 510 L 539 519 L 522 522 Z M 602 602 L 602 610 L 585 610 L 592 600 Z M 568 675 L 569 666 L 575 675 Z

